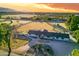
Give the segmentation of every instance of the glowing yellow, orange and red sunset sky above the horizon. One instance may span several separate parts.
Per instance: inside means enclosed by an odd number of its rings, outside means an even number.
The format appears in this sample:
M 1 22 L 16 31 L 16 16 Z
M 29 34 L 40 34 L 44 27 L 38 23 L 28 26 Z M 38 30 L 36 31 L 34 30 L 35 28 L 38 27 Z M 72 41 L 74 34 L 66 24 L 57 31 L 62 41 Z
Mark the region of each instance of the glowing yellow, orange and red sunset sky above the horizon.
M 79 12 L 79 4 L 73 3 L 0 3 L 0 7 L 23 12 Z

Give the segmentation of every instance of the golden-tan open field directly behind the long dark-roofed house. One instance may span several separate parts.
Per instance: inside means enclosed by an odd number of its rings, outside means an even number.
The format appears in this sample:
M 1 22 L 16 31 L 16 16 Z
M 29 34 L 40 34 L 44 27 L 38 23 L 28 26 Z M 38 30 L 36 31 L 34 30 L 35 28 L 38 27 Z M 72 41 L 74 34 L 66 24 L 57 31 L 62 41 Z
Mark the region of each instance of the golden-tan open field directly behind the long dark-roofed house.
M 46 22 L 31 22 L 17 29 L 19 32 L 28 32 L 29 30 L 48 30 L 50 32 L 55 32 L 54 28 L 47 24 Z

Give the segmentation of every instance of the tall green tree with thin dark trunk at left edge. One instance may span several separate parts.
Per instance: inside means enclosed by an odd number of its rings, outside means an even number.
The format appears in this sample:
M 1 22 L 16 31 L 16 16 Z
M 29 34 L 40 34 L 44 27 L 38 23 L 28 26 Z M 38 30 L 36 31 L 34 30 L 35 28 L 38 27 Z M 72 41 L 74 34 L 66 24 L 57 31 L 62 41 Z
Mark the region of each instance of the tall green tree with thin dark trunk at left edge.
M 11 23 L 10 23 L 11 24 Z M 0 46 L 3 42 L 6 43 L 6 46 L 8 46 L 8 56 L 11 54 L 11 46 L 10 46 L 10 39 L 12 34 L 12 27 L 10 24 L 1 23 L 0 24 Z

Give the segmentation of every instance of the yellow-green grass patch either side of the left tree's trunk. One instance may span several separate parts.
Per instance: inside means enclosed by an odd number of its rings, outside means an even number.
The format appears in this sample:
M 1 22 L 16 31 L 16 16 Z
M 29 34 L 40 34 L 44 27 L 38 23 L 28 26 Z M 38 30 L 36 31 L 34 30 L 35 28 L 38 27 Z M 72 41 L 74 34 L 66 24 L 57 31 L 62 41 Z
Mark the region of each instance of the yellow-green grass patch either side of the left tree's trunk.
M 11 40 L 11 49 L 13 50 L 13 49 L 19 48 L 27 43 L 28 43 L 27 40 L 13 39 L 13 40 Z M 8 51 L 8 47 L 5 44 L 5 42 L 2 44 L 2 46 L 0 46 L 0 50 Z

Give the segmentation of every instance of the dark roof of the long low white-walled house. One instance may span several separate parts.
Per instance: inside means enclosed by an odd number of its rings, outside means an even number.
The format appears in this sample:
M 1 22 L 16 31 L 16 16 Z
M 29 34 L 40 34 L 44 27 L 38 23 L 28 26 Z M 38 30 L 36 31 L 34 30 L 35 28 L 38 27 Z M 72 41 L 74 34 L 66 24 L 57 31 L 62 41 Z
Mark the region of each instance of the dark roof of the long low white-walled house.
M 47 37 L 62 37 L 62 38 L 69 38 L 69 34 L 65 33 L 57 33 L 57 32 L 48 32 L 47 30 L 40 31 L 40 30 L 30 30 L 28 34 L 35 34 L 35 35 L 45 35 Z

